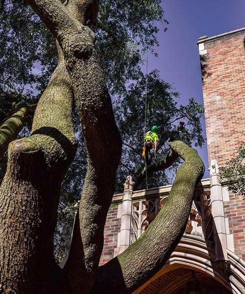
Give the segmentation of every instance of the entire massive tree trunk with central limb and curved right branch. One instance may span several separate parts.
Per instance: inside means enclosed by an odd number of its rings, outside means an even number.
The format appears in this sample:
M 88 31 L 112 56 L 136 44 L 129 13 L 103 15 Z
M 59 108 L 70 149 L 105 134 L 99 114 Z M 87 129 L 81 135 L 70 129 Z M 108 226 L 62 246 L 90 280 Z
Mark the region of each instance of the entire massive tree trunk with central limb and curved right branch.
M 56 37 L 59 63 L 38 103 L 31 136 L 9 144 L 0 186 L 0 293 L 88 294 L 98 270 L 122 152 L 95 36 L 85 26 L 95 19 L 98 0 L 69 0 L 66 6 L 60 0 L 26 1 Z M 87 143 L 88 171 L 62 271 L 53 258 L 53 233 L 60 184 L 76 149 L 73 95 Z M 196 151 L 183 144 L 172 143 L 186 163 L 168 202 L 141 239 L 100 268 L 91 293 L 133 292 L 163 266 L 178 244 L 203 172 Z

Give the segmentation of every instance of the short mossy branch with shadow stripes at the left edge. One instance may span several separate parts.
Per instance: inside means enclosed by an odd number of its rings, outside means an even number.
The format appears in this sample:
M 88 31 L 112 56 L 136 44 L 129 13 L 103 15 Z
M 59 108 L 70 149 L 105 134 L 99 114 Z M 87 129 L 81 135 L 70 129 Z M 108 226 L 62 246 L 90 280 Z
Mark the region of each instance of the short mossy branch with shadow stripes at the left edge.
M 28 107 L 20 105 L 15 113 L 0 127 L 0 158 L 6 152 L 8 144 L 15 140 L 21 129 L 23 128 Z

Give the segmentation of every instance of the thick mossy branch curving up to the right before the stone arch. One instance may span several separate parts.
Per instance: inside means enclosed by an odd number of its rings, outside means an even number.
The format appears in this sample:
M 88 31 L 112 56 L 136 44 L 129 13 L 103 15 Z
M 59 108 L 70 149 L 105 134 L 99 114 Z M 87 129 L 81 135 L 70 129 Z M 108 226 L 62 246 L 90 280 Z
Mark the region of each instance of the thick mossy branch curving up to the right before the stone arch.
M 179 243 L 204 165 L 195 149 L 181 141 L 170 145 L 185 163 L 176 173 L 168 201 L 134 244 L 99 268 L 91 294 L 132 293 L 163 267 Z

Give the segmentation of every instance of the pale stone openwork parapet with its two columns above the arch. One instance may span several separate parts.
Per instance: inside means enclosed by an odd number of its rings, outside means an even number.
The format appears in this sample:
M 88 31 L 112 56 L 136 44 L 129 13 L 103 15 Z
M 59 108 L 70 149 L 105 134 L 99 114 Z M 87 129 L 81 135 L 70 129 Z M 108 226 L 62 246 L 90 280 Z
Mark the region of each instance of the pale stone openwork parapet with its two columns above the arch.
M 123 252 L 135 242 L 154 220 L 166 203 L 172 186 L 133 191 L 131 176 L 127 176 L 123 194 L 113 197 L 113 203 L 120 203 L 121 227 L 118 248 L 115 255 Z M 214 243 L 217 261 L 227 260 L 227 231 L 223 211 L 223 201 L 228 197 L 226 187 L 222 187 L 216 160 L 211 162 L 210 178 L 203 179 L 195 193 L 186 234 L 192 234 Z M 228 246 L 232 250 L 232 244 Z

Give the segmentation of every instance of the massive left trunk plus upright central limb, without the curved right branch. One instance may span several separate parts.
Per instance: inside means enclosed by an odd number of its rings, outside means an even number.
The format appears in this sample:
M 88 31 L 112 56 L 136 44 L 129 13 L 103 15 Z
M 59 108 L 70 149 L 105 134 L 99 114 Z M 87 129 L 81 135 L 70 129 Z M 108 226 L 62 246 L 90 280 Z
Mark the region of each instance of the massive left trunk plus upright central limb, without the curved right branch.
M 31 136 L 9 146 L 0 187 L 0 291 L 48 294 L 63 288 L 66 293 L 78 289 L 88 293 L 98 268 L 122 149 L 94 35 L 73 17 L 80 16 L 84 23 L 94 1 L 69 1 L 73 15 L 58 0 L 28 2 L 54 33 L 62 54 L 38 103 Z M 71 251 L 64 270 L 72 288 L 67 290 L 53 258 L 53 232 L 60 184 L 75 152 L 73 93 L 88 146 L 88 172 L 79 209 L 79 255 Z M 79 270 L 74 271 L 77 265 Z

